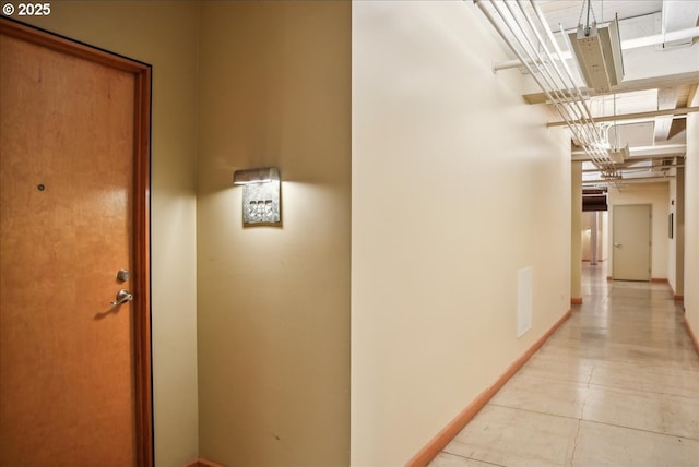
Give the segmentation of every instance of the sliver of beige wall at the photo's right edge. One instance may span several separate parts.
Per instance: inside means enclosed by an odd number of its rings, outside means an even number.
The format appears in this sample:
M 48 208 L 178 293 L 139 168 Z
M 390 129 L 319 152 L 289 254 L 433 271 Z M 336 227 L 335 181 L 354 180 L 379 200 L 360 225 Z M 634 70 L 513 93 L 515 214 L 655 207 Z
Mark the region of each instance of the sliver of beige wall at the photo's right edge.
M 697 86 L 689 105 L 699 106 Z M 685 164 L 685 311 L 699 338 L 699 113 L 687 115 Z

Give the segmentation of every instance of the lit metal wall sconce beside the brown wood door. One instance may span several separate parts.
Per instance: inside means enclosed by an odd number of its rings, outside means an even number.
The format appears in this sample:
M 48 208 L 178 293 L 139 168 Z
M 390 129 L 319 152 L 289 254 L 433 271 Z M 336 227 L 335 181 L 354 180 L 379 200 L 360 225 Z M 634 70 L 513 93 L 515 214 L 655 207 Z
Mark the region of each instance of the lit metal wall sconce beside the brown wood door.
M 236 170 L 233 184 L 244 185 L 244 226 L 282 225 L 280 171 L 276 167 Z

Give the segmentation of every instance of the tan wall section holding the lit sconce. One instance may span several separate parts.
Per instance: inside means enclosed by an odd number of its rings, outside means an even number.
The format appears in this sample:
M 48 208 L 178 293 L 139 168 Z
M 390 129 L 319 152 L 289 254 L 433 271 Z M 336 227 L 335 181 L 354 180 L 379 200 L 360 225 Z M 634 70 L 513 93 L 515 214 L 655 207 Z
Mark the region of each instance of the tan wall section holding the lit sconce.
M 332 466 L 350 448 L 351 3 L 201 7 L 200 454 Z M 283 228 L 242 228 L 274 165 Z

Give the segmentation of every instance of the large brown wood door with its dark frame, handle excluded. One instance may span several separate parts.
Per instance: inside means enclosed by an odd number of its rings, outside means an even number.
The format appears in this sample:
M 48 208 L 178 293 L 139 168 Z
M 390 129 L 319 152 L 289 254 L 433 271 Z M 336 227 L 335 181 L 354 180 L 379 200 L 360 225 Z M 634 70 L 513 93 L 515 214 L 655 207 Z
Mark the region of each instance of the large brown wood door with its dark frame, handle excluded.
M 150 71 L 1 25 L 0 465 L 149 465 Z

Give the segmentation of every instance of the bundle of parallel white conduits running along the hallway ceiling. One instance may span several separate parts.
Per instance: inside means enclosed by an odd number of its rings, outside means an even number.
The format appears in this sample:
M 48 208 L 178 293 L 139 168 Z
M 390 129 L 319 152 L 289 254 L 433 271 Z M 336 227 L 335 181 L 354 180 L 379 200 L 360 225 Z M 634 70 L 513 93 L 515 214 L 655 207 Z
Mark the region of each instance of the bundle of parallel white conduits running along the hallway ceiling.
M 595 124 L 582 92 L 562 58 L 564 51 L 558 47 L 536 2 L 534 0 L 473 0 L 473 2 L 517 56 L 519 62 L 530 72 L 590 160 L 605 177 L 618 178 L 616 166 L 604 148 L 606 145 L 604 129 Z M 535 17 L 526 11 L 528 3 L 531 4 Z M 518 9 L 514 9 L 514 4 Z M 564 37 L 570 48 L 568 37 L 565 34 Z M 550 50 L 549 44 L 554 50 Z M 562 70 L 557 63 L 561 63 Z

